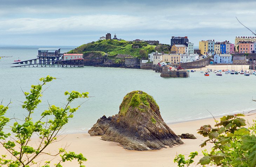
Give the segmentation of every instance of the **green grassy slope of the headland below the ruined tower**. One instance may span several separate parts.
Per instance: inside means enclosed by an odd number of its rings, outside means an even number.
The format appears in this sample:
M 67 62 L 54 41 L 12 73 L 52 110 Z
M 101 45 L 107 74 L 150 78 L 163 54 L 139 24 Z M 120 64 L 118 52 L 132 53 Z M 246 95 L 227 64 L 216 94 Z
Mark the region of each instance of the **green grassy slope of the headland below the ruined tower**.
M 137 46 L 139 48 L 133 48 Z M 102 55 L 108 54 L 109 58 L 114 58 L 117 54 L 130 54 L 134 57 L 139 57 L 140 50 L 145 50 L 147 53 L 155 52 L 154 45 L 148 45 L 146 42 L 129 42 L 126 40 L 99 40 L 88 44 L 83 44 L 68 53 L 90 53 L 97 51 Z

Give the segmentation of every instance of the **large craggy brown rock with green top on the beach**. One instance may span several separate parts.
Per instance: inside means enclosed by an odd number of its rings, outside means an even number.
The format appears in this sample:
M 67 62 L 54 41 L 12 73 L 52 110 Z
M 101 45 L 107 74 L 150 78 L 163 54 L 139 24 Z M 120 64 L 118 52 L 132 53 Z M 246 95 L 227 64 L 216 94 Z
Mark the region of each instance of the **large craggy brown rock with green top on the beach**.
M 118 114 L 108 118 L 104 115 L 88 132 L 128 150 L 160 150 L 183 144 L 163 121 L 153 97 L 142 91 L 128 93 Z

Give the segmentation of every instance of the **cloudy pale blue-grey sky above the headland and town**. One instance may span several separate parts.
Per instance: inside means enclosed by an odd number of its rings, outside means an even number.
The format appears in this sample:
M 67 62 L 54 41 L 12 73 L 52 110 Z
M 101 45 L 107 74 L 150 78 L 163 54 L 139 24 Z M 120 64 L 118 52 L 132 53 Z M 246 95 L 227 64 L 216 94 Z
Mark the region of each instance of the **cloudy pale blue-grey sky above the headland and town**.
M 79 46 L 106 33 L 125 40 L 252 36 L 255 0 L 0 0 L 0 45 Z

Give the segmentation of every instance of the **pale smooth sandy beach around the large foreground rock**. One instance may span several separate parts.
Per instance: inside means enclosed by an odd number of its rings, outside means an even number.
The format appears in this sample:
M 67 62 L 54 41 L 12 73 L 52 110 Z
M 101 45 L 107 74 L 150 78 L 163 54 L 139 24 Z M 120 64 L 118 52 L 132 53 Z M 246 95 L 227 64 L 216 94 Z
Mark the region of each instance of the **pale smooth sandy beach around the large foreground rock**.
M 255 119 L 256 115 L 245 116 L 244 119 L 249 123 Z M 210 149 L 210 145 L 201 148 L 199 145 L 206 140 L 206 138 L 197 134 L 197 129 L 202 125 L 215 124 L 214 119 L 204 119 L 189 122 L 182 122 L 168 125 L 177 135 L 182 133 L 194 134 L 197 139 L 182 139 L 183 145 L 177 145 L 172 148 L 163 148 L 158 151 L 129 151 L 123 149 L 118 143 L 102 141 L 100 136 L 91 137 L 88 133 L 84 134 L 67 134 L 60 136 L 59 142 L 49 146 L 49 150 L 45 152 L 56 153 L 60 147 L 69 145 L 68 151 L 82 153 L 88 160 L 85 162 L 86 167 L 174 167 L 174 157 L 176 154 L 188 155 L 190 152 L 197 151 L 199 155 L 196 157 L 198 161 L 202 157 L 201 150 Z M 37 139 L 34 138 L 32 143 L 36 144 Z M 3 153 L 3 149 L 0 152 Z M 46 160 L 51 160 L 53 157 L 49 155 L 41 155 L 37 161 L 42 163 Z M 52 164 L 57 162 L 59 157 L 52 160 Z M 65 166 L 78 166 L 76 161 L 67 162 Z M 193 165 L 195 166 L 195 165 Z

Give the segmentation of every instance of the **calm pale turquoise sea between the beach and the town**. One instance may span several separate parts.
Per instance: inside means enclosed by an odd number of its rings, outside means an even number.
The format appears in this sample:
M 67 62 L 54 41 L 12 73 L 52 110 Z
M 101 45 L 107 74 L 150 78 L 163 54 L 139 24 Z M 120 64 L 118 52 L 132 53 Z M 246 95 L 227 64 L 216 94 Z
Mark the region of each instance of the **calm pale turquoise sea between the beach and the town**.
M 74 119 L 65 127 L 65 132 L 87 131 L 102 115 L 112 116 L 119 112 L 123 97 L 130 91 L 142 90 L 154 97 L 166 123 L 188 121 L 214 116 L 250 111 L 256 108 L 256 76 L 223 75 L 210 73 L 204 77 L 196 71 L 190 78 L 162 78 L 153 70 L 123 68 L 11 68 L 14 60 L 36 58 L 42 46 L 0 46 L 0 99 L 7 105 L 12 101 L 8 117 L 22 119 L 26 111 L 21 108 L 25 101 L 23 91 L 38 84 L 39 78 L 47 75 L 58 79 L 48 83 L 43 92 L 42 103 L 35 111 L 38 119 L 49 104 L 63 106 L 65 91 L 89 92 L 89 99 L 78 99 L 72 106 L 85 102 L 75 113 Z M 46 47 L 46 46 L 44 46 Z M 49 47 L 49 46 L 48 46 Z M 62 47 L 67 52 L 74 47 Z

